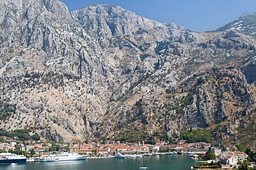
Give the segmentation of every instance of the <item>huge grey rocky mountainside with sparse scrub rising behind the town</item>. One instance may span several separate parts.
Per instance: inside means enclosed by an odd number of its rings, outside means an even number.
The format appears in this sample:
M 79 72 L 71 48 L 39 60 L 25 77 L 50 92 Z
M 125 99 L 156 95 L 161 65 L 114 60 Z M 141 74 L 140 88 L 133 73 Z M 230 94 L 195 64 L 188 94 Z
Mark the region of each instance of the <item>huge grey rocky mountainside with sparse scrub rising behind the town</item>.
M 65 142 L 207 129 L 255 142 L 252 36 L 188 32 L 111 5 L 69 12 L 57 0 L 3 0 L 0 14 L 2 129 Z

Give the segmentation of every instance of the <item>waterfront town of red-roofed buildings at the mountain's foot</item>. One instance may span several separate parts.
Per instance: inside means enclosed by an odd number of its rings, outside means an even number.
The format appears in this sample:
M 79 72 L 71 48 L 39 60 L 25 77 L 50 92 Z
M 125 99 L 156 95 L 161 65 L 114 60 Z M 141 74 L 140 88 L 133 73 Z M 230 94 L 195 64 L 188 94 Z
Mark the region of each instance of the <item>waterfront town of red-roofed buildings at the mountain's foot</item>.
M 142 142 L 125 142 L 107 140 L 106 142 L 73 142 L 72 144 L 55 144 L 48 140 L 19 140 L 18 137 L 8 138 L 1 136 L 4 142 L 0 142 L 1 152 L 19 151 L 25 153 L 28 161 L 35 161 L 39 157 L 47 156 L 51 153 L 79 153 L 81 155 L 89 155 L 90 158 L 113 158 L 117 153 L 125 156 L 154 156 L 158 154 L 181 154 L 188 153 L 192 159 L 205 158 L 209 151 L 213 153 L 213 157 L 207 162 L 210 164 L 219 162 L 221 169 L 237 168 L 241 162 L 248 161 L 248 154 L 242 151 L 237 151 L 237 147 L 233 146 L 225 148 L 223 151 L 219 147 L 212 147 L 210 143 L 196 142 L 187 143 L 186 140 L 179 140 L 176 145 L 168 142 L 155 139 L 155 145 L 149 145 Z M 253 151 L 255 153 L 255 151 Z M 251 163 L 249 167 L 254 167 Z M 196 169 L 200 166 L 196 166 Z M 202 167 L 202 166 L 201 166 Z

